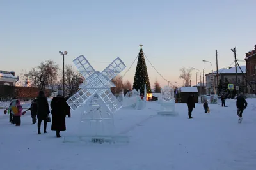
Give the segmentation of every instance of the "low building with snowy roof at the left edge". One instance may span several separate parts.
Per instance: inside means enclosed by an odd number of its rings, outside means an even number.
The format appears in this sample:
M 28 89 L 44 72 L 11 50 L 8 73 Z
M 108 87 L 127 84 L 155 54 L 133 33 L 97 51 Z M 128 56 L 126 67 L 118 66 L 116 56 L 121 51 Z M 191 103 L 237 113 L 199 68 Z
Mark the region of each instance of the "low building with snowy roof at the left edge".
M 15 76 L 14 71 L 2 71 L 0 70 L 0 85 L 15 86 L 15 83 L 19 80 L 19 77 Z

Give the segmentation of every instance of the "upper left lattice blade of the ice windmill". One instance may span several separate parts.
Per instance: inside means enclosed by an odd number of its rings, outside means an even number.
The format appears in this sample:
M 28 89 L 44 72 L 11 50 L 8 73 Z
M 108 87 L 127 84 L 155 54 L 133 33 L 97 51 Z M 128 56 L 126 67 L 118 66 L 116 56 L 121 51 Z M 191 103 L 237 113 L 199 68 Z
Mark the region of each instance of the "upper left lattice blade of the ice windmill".
M 74 59 L 73 62 L 76 65 L 79 73 L 83 75 L 85 80 L 96 72 L 83 55 L 80 55 L 79 57 Z

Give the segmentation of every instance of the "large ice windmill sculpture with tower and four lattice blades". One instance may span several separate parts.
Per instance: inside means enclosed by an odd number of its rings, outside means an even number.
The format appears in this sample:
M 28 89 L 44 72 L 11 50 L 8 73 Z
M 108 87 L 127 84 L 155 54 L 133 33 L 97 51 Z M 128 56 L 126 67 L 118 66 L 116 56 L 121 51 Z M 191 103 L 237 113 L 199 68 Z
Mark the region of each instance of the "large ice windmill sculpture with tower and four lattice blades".
M 122 108 L 122 105 L 110 90 L 115 87 L 111 79 L 125 69 L 124 62 L 116 58 L 102 73 L 95 71 L 83 55 L 73 62 L 85 79 L 79 87 L 81 90 L 67 100 L 73 111 L 77 108 L 83 110 L 80 139 L 96 143 L 113 141 L 113 113 Z

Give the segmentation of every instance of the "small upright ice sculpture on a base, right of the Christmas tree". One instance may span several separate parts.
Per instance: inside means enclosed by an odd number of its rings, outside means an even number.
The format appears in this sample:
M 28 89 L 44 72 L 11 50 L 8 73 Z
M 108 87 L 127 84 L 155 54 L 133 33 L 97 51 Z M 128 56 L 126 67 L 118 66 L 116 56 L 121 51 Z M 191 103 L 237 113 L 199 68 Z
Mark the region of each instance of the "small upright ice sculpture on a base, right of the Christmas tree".
M 175 112 L 174 89 L 164 86 L 161 89 L 161 96 L 159 96 L 159 104 L 161 104 L 161 111 L 158 112 L 159 115 L 177 114 Z

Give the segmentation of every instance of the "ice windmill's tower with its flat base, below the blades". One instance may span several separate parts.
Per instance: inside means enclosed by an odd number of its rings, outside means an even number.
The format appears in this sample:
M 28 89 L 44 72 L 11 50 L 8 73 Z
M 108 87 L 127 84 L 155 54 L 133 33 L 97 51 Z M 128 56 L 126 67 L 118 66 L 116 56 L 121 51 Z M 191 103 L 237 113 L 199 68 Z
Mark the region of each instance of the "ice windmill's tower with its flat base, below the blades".
M 127 136 L 115 135 L 113 113 L 108 110 L 106 104 L 100 101 L 97 95 L 93 96 L 90 104 L 84 104 L 81 113 L 79 132 L 77 136 L 66 136 L 64 142 L 92 142 L 92 143 L 128 143 Z

